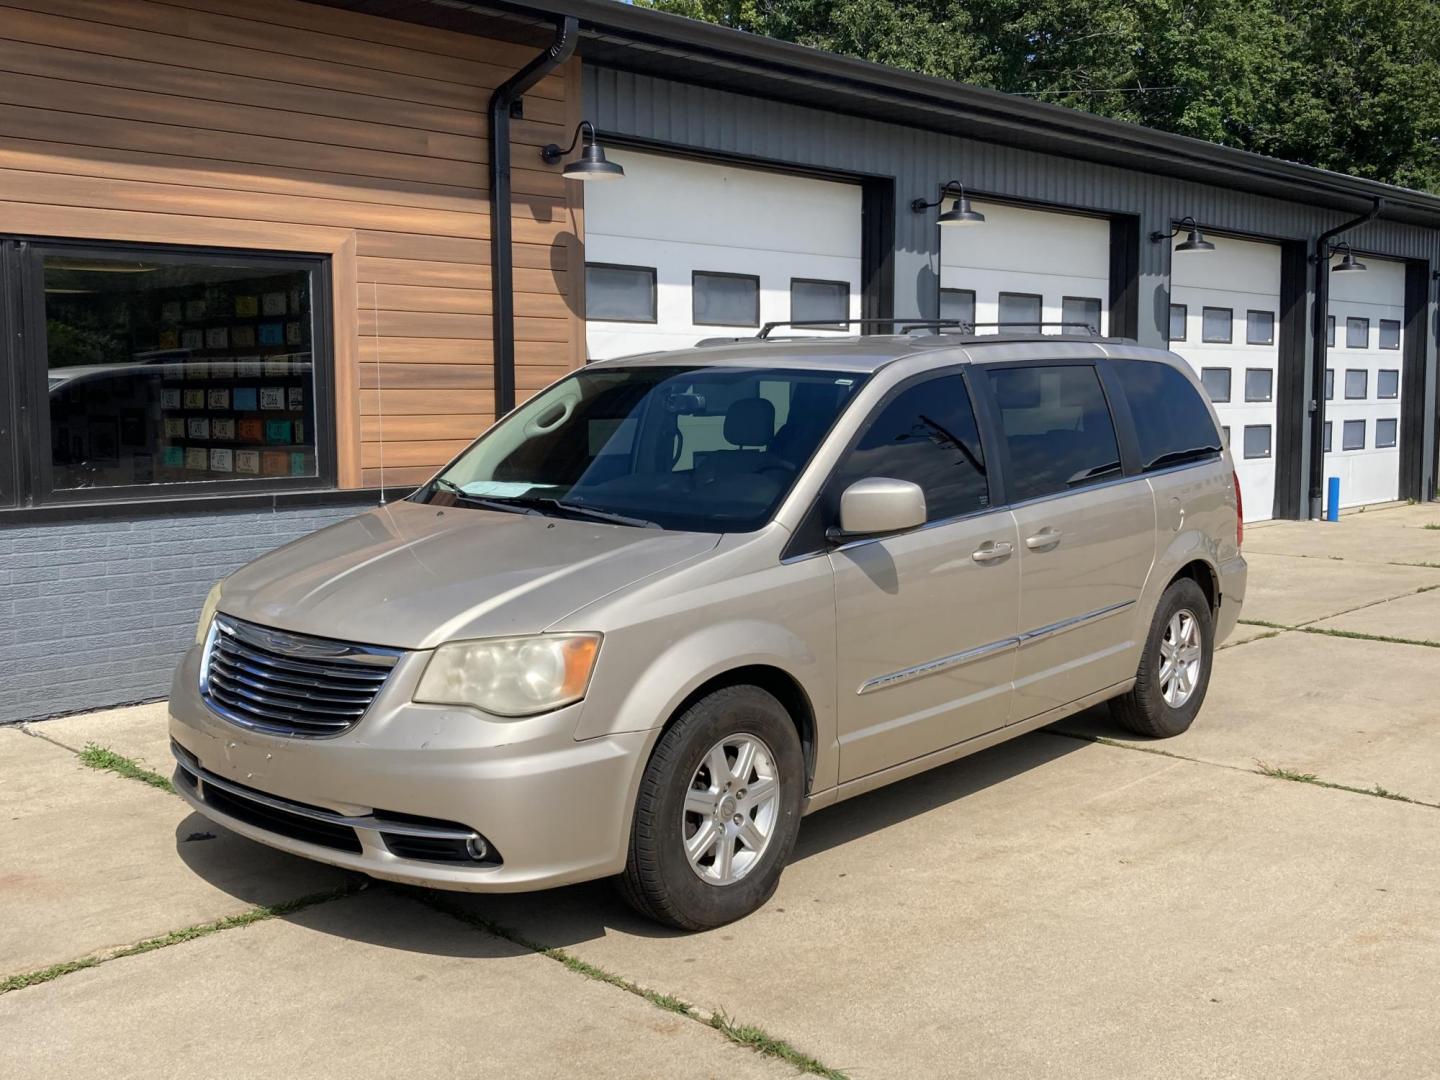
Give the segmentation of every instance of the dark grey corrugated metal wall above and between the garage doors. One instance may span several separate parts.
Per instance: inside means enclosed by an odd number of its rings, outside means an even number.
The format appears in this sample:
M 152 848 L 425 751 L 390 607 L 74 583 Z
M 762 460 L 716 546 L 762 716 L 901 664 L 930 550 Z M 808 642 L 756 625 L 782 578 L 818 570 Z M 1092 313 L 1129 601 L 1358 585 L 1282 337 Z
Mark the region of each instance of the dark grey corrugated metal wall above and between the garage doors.
M 752 98 L 609 68 L 585 68 L 585 115 L 606 134 L 736 154 L 776 166 L 896 179 L 896 314 L 935 317 L 939 229 L 935 210 L 910 210 L 916 196 L 935 199 L 949 179 L 1017 200 L 1102 213 L 1138 215 L 1140 236 L 1194 216 L 1208 230 L 1274 239 L 1313 239 L 1352 216 L 1113 166 L 1040 154 Z M 1440 262 L 1440 230 L 1377 222 L 1345 238 L 1356 251 Z M 1143 344 L 1164 346 L 1169 305 L 1169 245 L 1140 242 Z M 1436 301 L 1426 360 L 1424 490 L 1434 485 Z M 1309 370 L 1309 360 L 1306 363 Z M 1300 475 L 1306 475 L 1302 462 Z

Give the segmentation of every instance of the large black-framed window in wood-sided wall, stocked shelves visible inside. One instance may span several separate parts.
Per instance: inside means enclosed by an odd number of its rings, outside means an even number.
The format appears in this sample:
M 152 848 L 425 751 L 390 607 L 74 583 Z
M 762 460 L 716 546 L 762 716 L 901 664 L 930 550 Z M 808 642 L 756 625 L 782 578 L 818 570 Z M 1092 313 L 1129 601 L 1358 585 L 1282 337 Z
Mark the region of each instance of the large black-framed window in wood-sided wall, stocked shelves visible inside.
M 317 262 L 145 249 L 33 259 L 49 400 L 49 438 L 35 432 L 40 494 L 321 475 Z

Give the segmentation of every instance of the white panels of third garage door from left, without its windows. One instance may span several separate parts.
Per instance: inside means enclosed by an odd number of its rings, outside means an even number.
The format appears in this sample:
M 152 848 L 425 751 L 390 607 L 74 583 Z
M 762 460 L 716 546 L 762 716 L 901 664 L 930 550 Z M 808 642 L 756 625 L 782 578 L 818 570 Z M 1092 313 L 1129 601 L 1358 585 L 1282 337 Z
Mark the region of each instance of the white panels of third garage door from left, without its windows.
M 1174 243 L 1184 243 L 1185 233 Z M 1171 304 L 1185 307 L 1185 337 L 1171 340 L 1197 373 L 1218 369 L 1230 373 L 1230 400 L 1215 402 L 1221 425 L 1228 428 L 1230 451 L 1240 477 L 1246 520 L 1264 521 L 1274 513 L 1276 400 L 1280 361 L 1280 246 L 1231 236 L 1211 236 L 1211 252 L 1171 252 Z M 1231 312 L 1230 343 L 1204 340 L 1204 310 Z M 1246 341 L 1247 315 L 1272 315 L 1270 343 Z M 1246 400 L 1246 373 L 1269 372 L 1270 400 Z M 1246 428 L 1269 428 L 1269 452 L 1246 456 Z

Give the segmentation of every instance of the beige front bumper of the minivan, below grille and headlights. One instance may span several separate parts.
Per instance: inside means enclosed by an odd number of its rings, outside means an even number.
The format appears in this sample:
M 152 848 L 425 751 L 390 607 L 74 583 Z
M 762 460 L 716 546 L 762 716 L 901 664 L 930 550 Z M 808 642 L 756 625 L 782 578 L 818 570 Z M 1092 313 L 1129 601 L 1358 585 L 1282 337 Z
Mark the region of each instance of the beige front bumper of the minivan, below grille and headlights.
M 170 697 L 176 791 L 233 832 L 372 877 L 464 891 L 549 888 L 624 868 L 654 732 L 576 740 L 580 704 L 507 721 L 418 706 L 410 688 L 425 657 L 412 654 L 354 729 L 274 736 L 204 703 L 199 654 L 186 655 Z M 484 858 L 465 858 L 471 835 L 484 840 Z

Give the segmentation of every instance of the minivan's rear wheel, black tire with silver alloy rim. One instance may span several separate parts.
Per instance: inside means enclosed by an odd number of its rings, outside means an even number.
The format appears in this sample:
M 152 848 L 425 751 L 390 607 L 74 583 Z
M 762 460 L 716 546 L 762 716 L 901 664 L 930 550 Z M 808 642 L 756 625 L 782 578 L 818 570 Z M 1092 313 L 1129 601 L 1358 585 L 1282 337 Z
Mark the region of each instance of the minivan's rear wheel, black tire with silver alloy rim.
M 1200 655 L 1198 664 L 1187 664 L 1172 674 L 1166 667 L 1165 652 L 1176 631 L 1182 641 L 1198 644 Z M 1188 730 L 1205 701 L 1214 655 L 1215 622 L 1210 600 L 1194 580 L 1176 577 L 1155 608 L 1140 667 L 1135 674 L 1135 688 L 1110 701 L 1110 714 L 1136 734 L 1153 739 L 1169 739 Z M 1184 693 L 1185 684 L 1189 687 L 1188 694 Z

